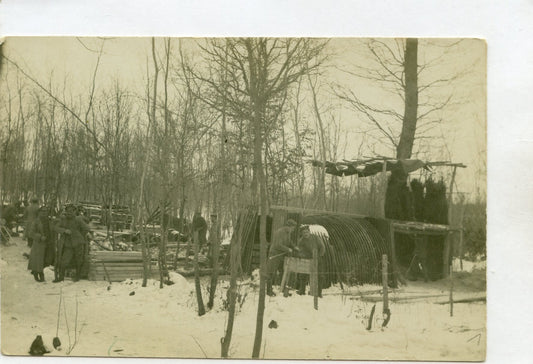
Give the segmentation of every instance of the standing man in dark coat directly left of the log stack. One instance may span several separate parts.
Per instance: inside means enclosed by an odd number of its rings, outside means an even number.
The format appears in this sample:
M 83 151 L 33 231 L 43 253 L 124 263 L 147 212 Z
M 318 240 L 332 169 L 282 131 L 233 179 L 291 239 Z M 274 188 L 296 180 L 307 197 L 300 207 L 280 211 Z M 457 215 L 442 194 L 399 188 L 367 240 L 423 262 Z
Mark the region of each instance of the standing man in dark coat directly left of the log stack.
M 76 207 L 67 205 L 65 216 L 57 225 L 56 231 L 61 234 L 61 241 L 58 244 L 58 255 L 56 270 L 58 272 L 54 283 L 61 282 L 65 278 L 65 269 L 71 262 L 74 263 L 76 273 L 72 279 L 74 282 L 80 279 L 81 269 L 84 260 L 84 252 L 87 245 L 85 236 L 90 233 L 89 226 L 83 218 L 76 216 Z

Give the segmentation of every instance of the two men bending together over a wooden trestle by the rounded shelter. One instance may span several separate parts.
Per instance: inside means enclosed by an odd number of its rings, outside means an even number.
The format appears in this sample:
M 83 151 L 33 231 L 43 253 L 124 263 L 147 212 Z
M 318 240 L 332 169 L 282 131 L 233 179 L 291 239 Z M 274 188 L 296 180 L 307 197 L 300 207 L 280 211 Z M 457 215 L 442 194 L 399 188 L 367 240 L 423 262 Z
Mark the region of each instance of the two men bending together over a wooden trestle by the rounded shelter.
M 319 236 L 311 234 L 309 225 L 300 226 L 298 238 L 294 239 L 296 226 L 296 222 L 289 219 L 285 223 L 285 226 L 274 232 L 267 262 L 267 294 L 269 296 L 275 296 L 272 285 L 277 272 L 283 267 L 285 257 L 294 256 L 302 259 L 313 259 L 313 251 L 316 251 L 316 256 L 319 259 L 324 256 L 326 252 L 324 241 Z M 321 274 L 319 273 L 319 276 L 320 275 Z M 307 281 L 307 275 L 298 274 L 297 293 L 299 295 L 305 294 Z M 320 278 L 318 282 L 318 296 L 322 297 Z

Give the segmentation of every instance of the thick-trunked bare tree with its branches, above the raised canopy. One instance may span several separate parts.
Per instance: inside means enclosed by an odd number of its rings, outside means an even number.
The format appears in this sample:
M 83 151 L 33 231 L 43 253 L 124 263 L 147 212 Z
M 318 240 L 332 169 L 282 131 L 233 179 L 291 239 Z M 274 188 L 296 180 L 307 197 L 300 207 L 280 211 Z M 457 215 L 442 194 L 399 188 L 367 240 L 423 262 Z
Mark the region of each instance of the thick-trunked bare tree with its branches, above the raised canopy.
M 420 63 L 418 39 L 372 39 L 366 42 L 369 57 L 364 61 L 370 66 L 352 65 L 352 70 L 342 71 L 381 88 L 387 101 L 365 99 L 353 88 L 341 87 L 335 93 L 372 126 L 367 137 L 385 141 L 397 158 L 411 158 L 415 141 L 430 137 L 442 121 L 442 111 L 453 103 L 453 90 L 446 93 L 442 89 L 467 72 L 446 74 L 439 69 L 439 62 L 457 43 L 450 42 L 440 52 L 433 52 L 438 55 L 424 57 Z M 423 47 L 436 48 L 430 41 Z

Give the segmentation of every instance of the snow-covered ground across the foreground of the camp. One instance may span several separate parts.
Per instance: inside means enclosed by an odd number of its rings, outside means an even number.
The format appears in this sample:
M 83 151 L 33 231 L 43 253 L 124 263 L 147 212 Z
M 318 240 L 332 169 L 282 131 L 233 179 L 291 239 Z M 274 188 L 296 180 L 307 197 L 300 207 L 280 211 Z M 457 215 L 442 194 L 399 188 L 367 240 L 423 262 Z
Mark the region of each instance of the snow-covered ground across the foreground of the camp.
M 220 357 L 220 338 L 228 318 L 223 300 L 229 286 L 223 277 L 215 307 L 204 316 L 196 313 L 194 284 L 172 274 L 174 285 L 159 288 L 150 280 L 121 283 L 79 281 L 35 282 L 26 270 L 22 253 L 29 249 L 20 238 L 1 247 L 1 346 L 7 355 L 27 355 L 36 335 L 42 335 L 47 355 L 102 357 Z M 454 298 L 484 296 L 484 270 L 454 273 Z M 206 277 L 207 278 L 207 277 Z M 207 279 L 204 301 L 207 302 Z M 250 358 L 257 314 L 257 282 L 240 282 L 230 356 Z M 387 327 L 382 328 L 382 304 L 376 303 L 371 330 L 368 320 L 380 287 L 334 286 L 324 290 L 319 309 L 311 296 L 267 297 L 261 358 L 483 360 L 486 349 L 486 305 L 483 301 L 457 303 L 453 317 L 447 280 L 410 282 L 391 290 Z M 58 337 L 62 350 L 54 350 L 58 303 L 63 297 Z M 77 304 L 76 304 L 77 303 Z M 77 307 L 77 322 L 76 322 Z M 66 308 L 66 310 L 64 310 Z M 268 328 L 271 320 L 277 328 Z M 67 327 L 68 323 L 68 327 Z

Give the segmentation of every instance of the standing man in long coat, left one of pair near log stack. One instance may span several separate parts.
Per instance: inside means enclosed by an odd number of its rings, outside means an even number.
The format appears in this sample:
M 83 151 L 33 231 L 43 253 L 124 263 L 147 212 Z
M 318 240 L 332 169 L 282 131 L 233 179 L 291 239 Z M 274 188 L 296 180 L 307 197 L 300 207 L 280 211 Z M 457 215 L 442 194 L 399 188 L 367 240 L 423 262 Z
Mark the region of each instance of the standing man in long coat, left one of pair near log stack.
M 49 245 L 48 241 L 52 238 L 52 234 L 53 231 L 50 229 L 50 222 L 48 220 L 48 208 L 43 206 L 39 209 L 39 216 L 32 222 L 28 232 L 28 239 L 31 238 L 33 241 L 28 269 L 37 282 L 44 282 L 44 257 L 46 248 Z

